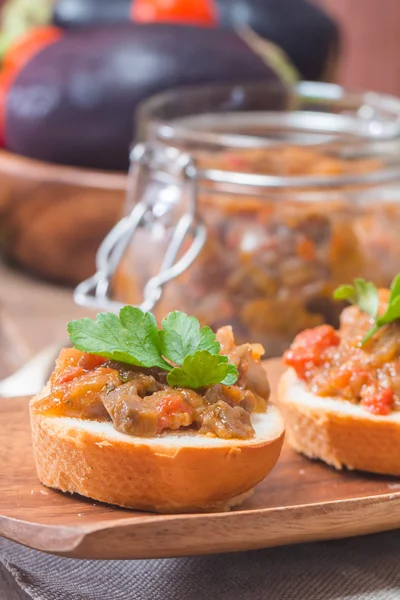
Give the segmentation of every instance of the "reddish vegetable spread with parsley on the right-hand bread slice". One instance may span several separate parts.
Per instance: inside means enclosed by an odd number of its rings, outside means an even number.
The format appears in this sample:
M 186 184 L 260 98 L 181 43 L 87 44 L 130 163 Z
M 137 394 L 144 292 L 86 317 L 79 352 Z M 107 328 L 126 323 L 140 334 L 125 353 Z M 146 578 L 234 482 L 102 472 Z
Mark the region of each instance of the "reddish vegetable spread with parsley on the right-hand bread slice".
M 361 403 L 376 415 L 400 409 L 400 276 L 390 290 L 356 279 L 335 298 L 344 309 L 340 329 L 321 325 L 299 334 L 285 364 L 319 396 Z

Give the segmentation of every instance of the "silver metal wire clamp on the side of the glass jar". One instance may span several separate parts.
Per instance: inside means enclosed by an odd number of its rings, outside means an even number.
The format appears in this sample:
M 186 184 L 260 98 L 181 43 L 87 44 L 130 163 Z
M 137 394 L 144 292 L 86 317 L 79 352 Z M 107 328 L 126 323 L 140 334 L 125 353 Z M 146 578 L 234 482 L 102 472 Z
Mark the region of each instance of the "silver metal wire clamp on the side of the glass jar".
M 128 177 L 127 205 L 134 204 L 130 214 L 122 218 L 105 237 L 96 256 L 96 273 L 80 283 L 74 292 L 74 300 L 80 306 L 118 312 L 122 303 L 112 299 L 112 280 L 137 229 L 145 223 L 153 223 L 154 199 L 144 194 L 149 170 L 159 161 L 157 152 L 150 146 L 139 144 L 131 152 Z M 164 159 L 165 160 L 165 153 Z M 139 308 L 152 311 L 160 300 L 163 286 L 184 273 L 201 252 L 207 229 L 197 210 L 197 170 L 188 154 L 173 157 L 177 175 L 182 182 L 180 201 L 186 201 L 187 210 L 179 218 L 165 252 L 161 268 L 144 286 L 143 301 Z M 141 198 L 137 202 L 137 198 Z M 184 242 L 191 239 L 189 248 L 181 254 Z

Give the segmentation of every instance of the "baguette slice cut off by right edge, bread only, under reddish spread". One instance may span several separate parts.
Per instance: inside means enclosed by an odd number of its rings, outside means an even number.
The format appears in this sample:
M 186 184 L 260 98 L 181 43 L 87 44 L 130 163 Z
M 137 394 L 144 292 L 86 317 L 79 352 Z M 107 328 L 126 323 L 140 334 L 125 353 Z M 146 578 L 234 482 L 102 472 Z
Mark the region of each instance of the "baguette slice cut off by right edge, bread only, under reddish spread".
M 290 446 L 336 469 L 400 476 L 400 413 L 375 416 L 358 404 L 312 394 L 293 369 L 282 376 L 278 406 Z

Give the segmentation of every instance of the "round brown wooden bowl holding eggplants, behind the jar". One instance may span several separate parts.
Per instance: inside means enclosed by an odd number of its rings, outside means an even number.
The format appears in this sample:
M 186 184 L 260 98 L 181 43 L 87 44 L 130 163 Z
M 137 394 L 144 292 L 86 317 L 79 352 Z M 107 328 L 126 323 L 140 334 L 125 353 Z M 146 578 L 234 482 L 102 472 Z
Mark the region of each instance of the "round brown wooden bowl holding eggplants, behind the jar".
M 0 242 L 7 259 L 75 285 L 95 271 L 120 218 L 126 175 L 31 160 L 0 150 Z

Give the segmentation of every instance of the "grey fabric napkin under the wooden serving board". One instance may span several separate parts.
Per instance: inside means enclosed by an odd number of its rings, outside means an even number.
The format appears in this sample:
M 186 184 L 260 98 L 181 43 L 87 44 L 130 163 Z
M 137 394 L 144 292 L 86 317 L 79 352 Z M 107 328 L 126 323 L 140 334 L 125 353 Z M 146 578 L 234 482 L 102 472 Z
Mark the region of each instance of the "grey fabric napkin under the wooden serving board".
M 399 600 L 400 533 L 165 560 L 57 558 L 0 538 L 34 600 Z

